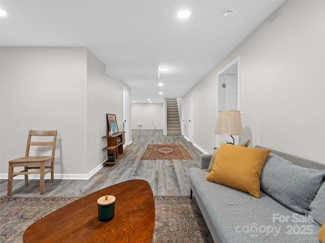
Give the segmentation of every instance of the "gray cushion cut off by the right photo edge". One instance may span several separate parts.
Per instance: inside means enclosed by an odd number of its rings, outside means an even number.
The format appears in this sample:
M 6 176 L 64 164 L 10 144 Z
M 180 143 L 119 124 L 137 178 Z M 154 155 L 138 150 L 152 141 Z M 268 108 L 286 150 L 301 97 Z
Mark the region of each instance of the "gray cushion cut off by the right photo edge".
M 319 187 L 318 192 L 311 202 L 309 209 L 315 223 L 319 226 L 325 223 L 325 183 Z

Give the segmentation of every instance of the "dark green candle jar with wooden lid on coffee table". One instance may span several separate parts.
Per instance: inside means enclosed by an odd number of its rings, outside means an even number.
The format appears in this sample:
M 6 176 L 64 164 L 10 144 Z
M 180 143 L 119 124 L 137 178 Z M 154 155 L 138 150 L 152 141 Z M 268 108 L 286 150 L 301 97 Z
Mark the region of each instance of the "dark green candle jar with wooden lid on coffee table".
M 105 195 L 97 200 L 98 218 L 100 221 L 109 221 L 114 218 L 115 196 Z

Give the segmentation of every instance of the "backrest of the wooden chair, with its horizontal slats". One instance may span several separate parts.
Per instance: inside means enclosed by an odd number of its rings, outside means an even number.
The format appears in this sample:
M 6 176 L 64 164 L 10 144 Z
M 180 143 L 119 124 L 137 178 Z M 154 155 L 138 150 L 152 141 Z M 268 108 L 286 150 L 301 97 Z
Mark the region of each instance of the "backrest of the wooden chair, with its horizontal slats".
M 30 146 L 52 146 L 52 157 L 54 163 L 56 135 L 57 135 L 57 130 L 53 130 L 53 131 L 29 130 L 25 156 L 28 157 Z M 53 136 L 53 141 L 52 142 L 30 141 L 32 136 Z

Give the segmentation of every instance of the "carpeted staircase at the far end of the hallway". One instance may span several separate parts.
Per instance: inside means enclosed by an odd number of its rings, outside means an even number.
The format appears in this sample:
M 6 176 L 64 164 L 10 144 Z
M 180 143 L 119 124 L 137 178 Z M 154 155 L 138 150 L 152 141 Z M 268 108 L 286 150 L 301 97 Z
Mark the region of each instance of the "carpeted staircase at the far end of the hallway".
M 182 135 L 176 98 L 167 98 L 167 135 Z

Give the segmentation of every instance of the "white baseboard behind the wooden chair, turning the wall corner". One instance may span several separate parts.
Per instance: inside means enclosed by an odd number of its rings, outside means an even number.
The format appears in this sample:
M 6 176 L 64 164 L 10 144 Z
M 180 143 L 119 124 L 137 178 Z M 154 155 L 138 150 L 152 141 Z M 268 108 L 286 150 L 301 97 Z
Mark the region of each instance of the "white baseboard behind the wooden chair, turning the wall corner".
M 54 174 L 54 179 L 59 180 L 88 180 L 90 179 L 94 174 L 96 174 L 100 169 L 103 168 L 104 161 L 96 166 L 94 169 L 92 169 L 88 174 Z M 15 176 L 14 180 L 23 180 L 25 177 L 23 175 Z M 8 174 L 0 174 L 0 179 L 7 180 Z M 40 175 L 28 175 L 28 179 L 40 179 Z M 45 179 L 51 179 L 50 174 L 45 175 Z

